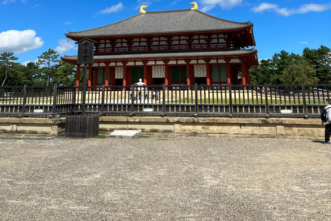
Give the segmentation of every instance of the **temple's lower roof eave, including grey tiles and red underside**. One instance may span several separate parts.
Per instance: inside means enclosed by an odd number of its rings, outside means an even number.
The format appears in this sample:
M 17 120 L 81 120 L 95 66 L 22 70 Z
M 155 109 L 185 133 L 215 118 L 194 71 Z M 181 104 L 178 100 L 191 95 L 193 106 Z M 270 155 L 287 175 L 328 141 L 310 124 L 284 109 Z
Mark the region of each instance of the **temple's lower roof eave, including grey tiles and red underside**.
M 226 52 L 229 51 L 223 51 L 225 52 L 224 55 L 222 55 L 222 52 L 219 53 L 219 55 L 212 55 L 212 54 L 205 54 L 203 55 L 203 52 L 176 52 L 176 53 L 153 53 L 153 54 L 141 54 L 141 56 L 132 55 L 130 57 L 129 55 L 96 55 L 94 56 L 94 63 L 103 63 L 103 62 L 120 62 L 120 61 L 143 61 L 143 60 L 154 60 L 154 61 L 162 61 L 164 59 L 170 59 L 170 60 L 181 60 L 181 59 L 204 59 L 204 58 L 210 58 L 210 59 L 219 59 L 219 58 L 241 58 L 241 57 L 250 57 L 251 62 L 253 62 L 254 66 L 259 66 L 259 61 L 257 59 L 257 50 L 254 48 L 252 49 L 241 49 L 236 50 L 237 54 L 235 55 L 228 55 Z M 196 55 L 194 55 L 194 53 Z M 217 53 L 216 53 L 217 54 Z M 163 55 L 163 56 L 162 56 Z M 129 57 L 126 57 L 129 56 Z M 113 58 L 111 58 L 113 57 Z M 61 57 L 63 61 L 66 61 L 68 63 L 77 64 L 77 55 L 72 56 L 66 56 Z

